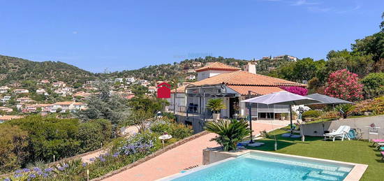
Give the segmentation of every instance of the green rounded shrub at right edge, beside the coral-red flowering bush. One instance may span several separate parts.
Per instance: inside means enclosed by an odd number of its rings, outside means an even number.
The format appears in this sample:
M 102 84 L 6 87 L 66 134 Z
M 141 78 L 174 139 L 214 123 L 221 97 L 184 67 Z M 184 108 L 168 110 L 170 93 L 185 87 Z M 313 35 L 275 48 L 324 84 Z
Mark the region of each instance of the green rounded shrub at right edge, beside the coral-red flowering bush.
M 369 73 L 362 79 L 364 97 L 366 99 L 384 94 L 384 73 Z

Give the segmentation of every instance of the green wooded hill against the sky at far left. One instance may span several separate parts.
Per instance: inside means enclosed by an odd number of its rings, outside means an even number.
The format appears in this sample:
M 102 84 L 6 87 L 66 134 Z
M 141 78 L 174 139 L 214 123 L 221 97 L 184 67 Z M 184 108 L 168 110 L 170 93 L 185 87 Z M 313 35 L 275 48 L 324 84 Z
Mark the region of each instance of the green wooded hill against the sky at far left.
M 0 55 L 0 84 L 23 80 L 65 81 L 69 85 L 93 79 L 94 73 L 61 61 L 29 61 Z

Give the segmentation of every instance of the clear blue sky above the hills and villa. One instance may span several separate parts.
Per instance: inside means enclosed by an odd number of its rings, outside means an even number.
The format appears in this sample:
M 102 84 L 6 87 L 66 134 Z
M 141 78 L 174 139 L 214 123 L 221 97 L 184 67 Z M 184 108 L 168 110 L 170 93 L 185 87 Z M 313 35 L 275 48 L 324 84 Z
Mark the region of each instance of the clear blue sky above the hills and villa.
M 0 55 L 102 72 L 205 55 L 323 59 L 378 31 L 383 0 L 0 0 Z

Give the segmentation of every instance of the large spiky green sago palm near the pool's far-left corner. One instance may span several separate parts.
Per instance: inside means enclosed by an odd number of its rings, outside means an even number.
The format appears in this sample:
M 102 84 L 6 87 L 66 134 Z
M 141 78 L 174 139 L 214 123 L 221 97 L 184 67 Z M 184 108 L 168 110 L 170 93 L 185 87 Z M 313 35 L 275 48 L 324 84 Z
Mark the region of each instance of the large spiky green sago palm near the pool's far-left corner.
M 224 151 L 236 150 L 236 145 L 249 134 L 248 123 L 245 120 L 218 120 L 208 122 L 207 131 L 216 133 L 212 138 L 223 147 Z M 212 141 L 211 140 L 211 141 Z

